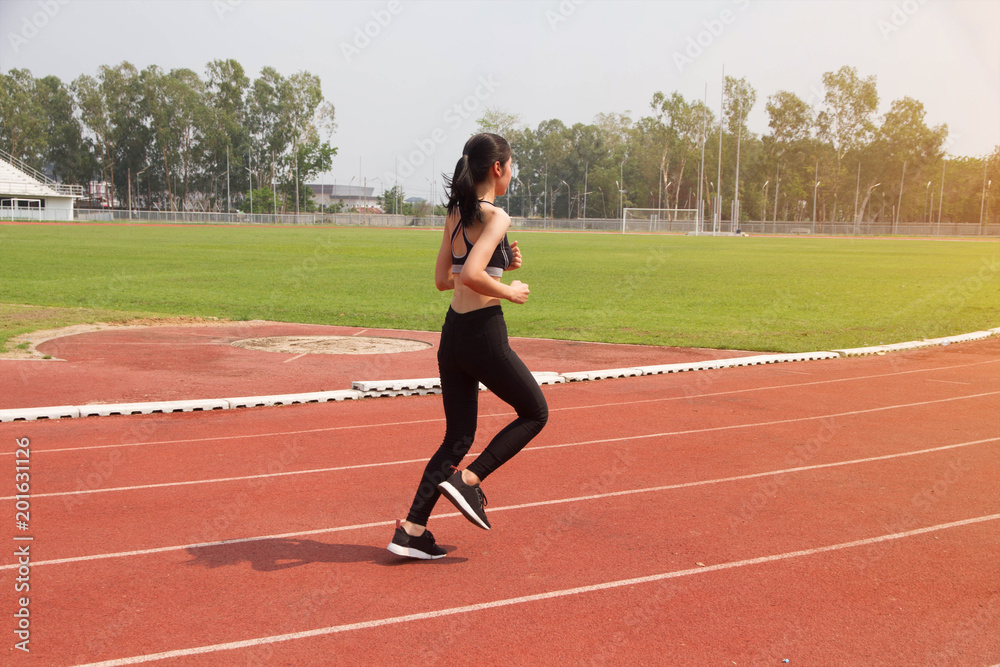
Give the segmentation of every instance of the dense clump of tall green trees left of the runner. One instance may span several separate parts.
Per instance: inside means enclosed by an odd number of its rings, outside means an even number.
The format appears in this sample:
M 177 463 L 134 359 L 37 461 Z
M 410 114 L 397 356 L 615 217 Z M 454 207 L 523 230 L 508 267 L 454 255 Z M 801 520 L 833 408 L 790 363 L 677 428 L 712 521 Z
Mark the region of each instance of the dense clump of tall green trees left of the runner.
M 68 85 L 0 74 L 0 148 L 64 183 L 105 181 L 133 208 L 236 208 L 251 184 L 256 212 L 305 206 L 337 152 L 334 117 L 318 76 L 265 67 L 251 82 L 231 59 L 204 76 L 122 62 Z

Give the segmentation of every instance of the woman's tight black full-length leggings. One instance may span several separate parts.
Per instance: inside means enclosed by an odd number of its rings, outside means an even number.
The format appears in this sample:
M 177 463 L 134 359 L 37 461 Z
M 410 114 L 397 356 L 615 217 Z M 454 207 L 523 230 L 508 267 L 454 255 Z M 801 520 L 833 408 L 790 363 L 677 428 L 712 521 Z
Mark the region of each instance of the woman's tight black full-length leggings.
M 441 329 L 438 369 L 446 420 L 444 442 L 428 461 L 407 520 L 426 526 L 441 495 L 437 485 L 452 474 L 472 447 L 479 412 L 479 383 L 508 403 L 517 419 L 497 433 L 468 465 L 479 479 L 506 463 L 545 426 L 549 409 L 538 383 L 507 343 L 500 306 L 468 313 L 451 308 Z

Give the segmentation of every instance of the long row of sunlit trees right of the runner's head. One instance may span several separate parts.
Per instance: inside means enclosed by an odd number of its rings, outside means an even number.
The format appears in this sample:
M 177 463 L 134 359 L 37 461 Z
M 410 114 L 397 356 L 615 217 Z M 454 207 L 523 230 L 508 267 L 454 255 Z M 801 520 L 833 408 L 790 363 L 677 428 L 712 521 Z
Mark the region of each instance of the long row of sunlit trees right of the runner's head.
M 700 199 L 709 221 L 736 212 L 740 221 L 815 215 L 820 225 L 979 223 L 987 210 L 1000 221 L 1000 183 L 991 187 L 1000 146 L 989 156 L 949 156 L 947 126 L 929 127 L 918 100 L 894 100 L 879 116 L 874 76 L 845 66 L 822 83 L 816 104 L 788 91 L 768 97 L 763 136 L 747 127 L 756 90 L 731 76 L 721 115 L 701 100 L 656 92 L 638 120 L 607 113 L 590 124 L 552 119 L 532 129 L 489 108 L 479 129 L 511 142 L 514 215 L 616 218 L 624 207 L 698 209 Z

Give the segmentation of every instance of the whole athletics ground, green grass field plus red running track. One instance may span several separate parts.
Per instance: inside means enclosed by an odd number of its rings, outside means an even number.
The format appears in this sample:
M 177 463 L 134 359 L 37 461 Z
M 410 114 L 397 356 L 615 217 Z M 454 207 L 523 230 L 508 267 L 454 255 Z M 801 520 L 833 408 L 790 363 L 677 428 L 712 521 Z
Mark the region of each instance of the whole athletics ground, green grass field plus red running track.
M 505 665 L 998 667 L 1000 338 L 735 363 L 995 329 L 997 242 L 511 237 L 534 290 L 505 309 L 512 346 L 565 381 L 485 483 L 494 529 L 439 503 L 447 553 L 417 561 L 386 545 L 441 442 L 441 397 L 344 394 L 437 372 L 440 233 L 0 225 L 5 336 L 237 320 L 0 361 L 0 461 L 23 475 L 0 497 L 0 576 L 30 580 L 0 602 L 30 639 L 12 659 L 383 665 L 402 641 L 421 664 L 488 646 Z M 425 345 L 236 345 L 309 335 Z M 600 372 L 716 359 L 734 363 Z M 469 460 L 512 417 L 491 392 L 479 415 Z

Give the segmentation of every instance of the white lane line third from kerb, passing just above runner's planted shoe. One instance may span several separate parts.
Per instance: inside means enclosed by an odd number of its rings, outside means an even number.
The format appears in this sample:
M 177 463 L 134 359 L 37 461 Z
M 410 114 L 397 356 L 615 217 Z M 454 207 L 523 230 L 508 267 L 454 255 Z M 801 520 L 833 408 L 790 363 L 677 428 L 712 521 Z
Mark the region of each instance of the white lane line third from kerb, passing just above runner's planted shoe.
M 527 508 L 527 507 L 545 507 L 545 506 L 550 506 L 550 505 L 564 505 L 566 503 L 583 502 L 583 501 L 587 501 L 587 500 L 601 500 L 601 499 L 605 499 L 605 498 L 614 498 L 614 497 L 617 497 L 617 496 L 631 496 L 631 495 L 636 495 L 636 494 L 639 494 L 639 493 L 656 493 L 656 492 L 659 492 L 659 491 L 671 491 L 671 490 L 674 490 L 674 489 L 686 489 L 686 488 L 691 488 L 691 487 L 695 487 L 695 486 L 708 486 L 710 484 L 723 484 L 723 483 L 726 483 L 726 482 L 738 482 L 738 481 L 743 481 L 743 480 L 748 480 L 748 479 L 756 479 L 756 478 L 759 478 L 759 477 L 772 477 L 772 476 L 785 475 L 785 474 L 790 474 L 790 473 L 795 473 L 795 472 L 805 472 L 805 471 L 808 471 L 808 470 L 819 470 L 819 469 L 822 469 L 822 468 L 836 468 L 836 467 L 840 467 L 840 466 L 857 465 L 857 464 L 860 464 L 860 463 L 870 463 L 872 461 L 887 461 L 887 460 L 890 460 L 890 459 L 904 458 L 904 457 L 907 457 L 907 456 L 917 456 L 917 455 L 920 455 L 920 454 L 931 454 L 931 453 L 934 453 L 934 452 L 941 452 L 941 451 L 946 451 L 946 450 L 949 450 L 949 449 L 958 449 L 960 447 L 971 447 L 973 445 L 981 445 L 983 443 L 996 442 L 996 441 L 1000 441 L 1000 437 L 986 438 L 984 440 L 972 440 L 972 441 L 969 441 L 969 442 L 960 442 L 960 443 L 957 443 L 957 444 L 954 444 L 954 445 L 942 445 L 940 447 L 931 447 L 930 449 L 920 449 L 920 450 L 915 450 L 915 451 L 912 451 L 912 452 L 900 452 L 898 454 L 884 454 L 882 456 L 872 456 L 872 457 L 867 457 L 867 458 L 863 458 L 863 459 L 852 459 L 852 460 L 849 460 L 849 461 L 835 461 L 833 463 L 818 463 L 818 464 L 811 465 L 811 466 L 800 466 L 800 467 L 797 467 L 797 468 L 785 468 L 784 470 L 771 470 L 771 471 L 767 471 L 767 472 L 748 473 L 746 475 L 736 475 L 736 476 L 733 476 L 733 477 L 722 477 L 722 478 L 718 478 L 718 479 L 699 480 L 699 481 L 695 481 L 695 482 L 680 482 L 678 484 L 667 484 L 667 485 L 664 485 L 664 486 L 647 487 L 647 488 L 644 488 L 644 489 L 628 489 L 628 490 L 625 490 L 625 491 L 611 491 L 611 492 L 608 492 L 608 493 L 598 493 L 598 494 L 593 494 L 593 495 L 589 495 L 589 496 L 576 496 L 576 497 L 572 497 L 572 498 L 558 498 L 556 500 L 542 500 L 542 501 L 538 501 L 538 502 L 534 502 L 534 503 L 523 503 L 523 504 L 520 504 L 520 505 L 508 505 L 508 506 L 505 506 L 505 507 L 490 508 L 490 512 L 505 512 L 505 511 L 509 511 L 509 510 L 524 509 L 524 508 Z M 449 512 L 449 513 L 446 513 L 446 514 L 435 514 L 434 518 L 435 519 L 444 519 L 444 518 L 451 518 L 451 517 L 458 517 L 458 516 L 462 516 L 461 513 L 459 513 L 459 512 Z M 348 530 L 362 530 L 362 529 L 365 529 L 365 528 L 373 528 L 373 527 L 376 527 L 376 526 L 391 526 L 391 525 L 393 525 L 393 523 L 394 522 L 391 521 L 391 520 L 390 521 L 376 521 L 376 522 L 373 522 L 373 523 L 362 523 L 362 524 L 355 524 L 355 525 L 352 525 L 352 526 L 337 526 L 337 527 L 334 527 L 334 528 L 317 528 L 317 529 L 314 529 L 314 530 L 307 530 L 307 531 L 301 531 L 301 532 L 296 532 L 296 533 L 281 533 L 281 534 L 277 534 L 277 535 L 261 535 L 261 536 L 258 536 L 258 537 L 241 537 L 241 538 L 236 538 L 236 539 L 232 539 L 232 540 L 221 540 L 221 541 L 218 541 L 218 542 L 201 542 L 201 543 L 197 543 L 197 544 L 184 544 L 184 545 L 180 545 L 180 546 L 157 547 L 157 548 L 153 548 L 153 549 L 139 549 L 139 550 L 135 550 L 135 551 L 124 551 L 124 552 L 109 553 L 109 554 L 96 554 L 96 555 L 92 555 L 92 556 L 73 556 L 73 557 L 70 557 L 70 558 L 59 558 L 59 559 L 54 559 L 54 560 L 35 561 L 35 562 L 32 562 L 32 567 L 38 567 L 38 566 L 41 566 L 41 565 L 61 565 L 61 564 L 64 564 L 64 563 L 76 563 L 76 562 L 81 562 L 81 561 L 103 560 L 103 559 L 107 559 L 107 558 L 127 558 L 127 557 L 131 557 L 131 556 L 145 556 L 145 555 L 149 555 L 149 554 L 164 553 L 164 552 L 168 552 L 168 551 L 181 551 L 183 549 L 201 549 L 201 548 L 205 548 L 205 547 L 216 547 L 216 546 L 221 546 L 221 545 L 225 545 L 225 544 L 238 544 L 238 543 L 242 543 L 242 542 L 257 542 L 257 541 L 264 541 L 264 540 L 288 539 L 288 538 L 295 538 L 295 537 L 303 537 L 303 536 L 306 536 L 306 535 L 319 535 L 319 534 L 322 534 L 322 533 L 337 533 L 337 532 L 343 532 L 343 531 L 348 531 Z M 16 564 L 15 565 L 0 565 L 0 571 L 11 570 L 11 569 L 14 569 L 16 567 L 17 567 Z

